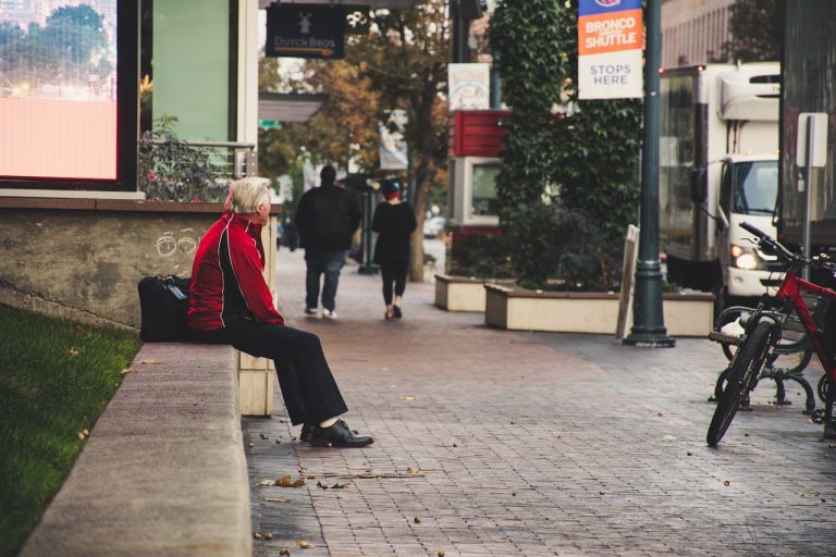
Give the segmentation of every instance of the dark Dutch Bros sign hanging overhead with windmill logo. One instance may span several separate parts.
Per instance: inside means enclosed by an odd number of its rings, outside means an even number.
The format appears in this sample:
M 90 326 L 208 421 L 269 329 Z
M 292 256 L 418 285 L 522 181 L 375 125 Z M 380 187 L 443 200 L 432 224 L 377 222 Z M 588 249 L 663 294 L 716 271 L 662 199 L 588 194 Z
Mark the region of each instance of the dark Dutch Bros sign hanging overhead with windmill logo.
M 345 58 L 345 9 L 295 4 L 267 9 L 265 55 Z

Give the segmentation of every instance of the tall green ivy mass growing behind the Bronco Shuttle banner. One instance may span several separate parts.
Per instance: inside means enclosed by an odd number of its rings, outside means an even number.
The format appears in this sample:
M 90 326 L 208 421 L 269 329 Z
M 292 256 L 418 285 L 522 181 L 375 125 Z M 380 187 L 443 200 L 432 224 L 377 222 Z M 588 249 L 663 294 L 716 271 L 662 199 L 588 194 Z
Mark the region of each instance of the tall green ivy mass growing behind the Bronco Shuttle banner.
M 500 219 L 517 278 L 533 287 L 553 277 L 613 287 L 637 221 L 642 104 L 577 99 L 577 4 L 505 0 L 491 18 L 513 111 L 503 122 Z

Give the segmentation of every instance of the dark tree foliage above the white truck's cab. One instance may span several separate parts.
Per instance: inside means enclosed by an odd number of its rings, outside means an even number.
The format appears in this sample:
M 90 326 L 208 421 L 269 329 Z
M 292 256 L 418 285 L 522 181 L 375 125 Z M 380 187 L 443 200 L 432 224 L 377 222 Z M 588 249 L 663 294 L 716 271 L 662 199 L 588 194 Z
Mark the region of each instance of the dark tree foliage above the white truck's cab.
M 737 0 L 729 8 L 732 40 L 723 45 L 723 60 L 771 62 L 784 47 L 785 0 Z

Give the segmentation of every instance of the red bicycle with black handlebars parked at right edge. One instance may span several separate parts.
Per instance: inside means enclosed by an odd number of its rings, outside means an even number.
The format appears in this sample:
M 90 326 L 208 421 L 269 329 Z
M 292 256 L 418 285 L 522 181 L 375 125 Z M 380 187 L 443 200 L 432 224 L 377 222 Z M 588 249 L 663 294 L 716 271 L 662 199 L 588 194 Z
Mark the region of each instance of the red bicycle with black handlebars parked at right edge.
M 778 256 L 786 263 L 784 278 L 775 297 L 763 295 L 754 312 L 746 321 L 745 335 L 729 367 L 725 388 L 714 410 L 705 441 L 716 446 L 723 438 L 735 414 L 749 393 L 758 384 L 765 362 L 777 358 L 782 331 L 789 321 L 798 321 L 825 371 L 820 382 L 820 395 L 824 395 L 824 410 L 815 410 L 813 419 L 824 423 L 824 438 L 836 438 L 836 423 L 833 421 L 834 392 L 829 388 L 836 382 L 836 360 L 827 354 L 823 344 L 823 331 L 814 322 L 806 296 L 815 299 L 836 300 L 836 290 L 819 286 L 800 278 L 798 272 L 804 268 L 822 269 L 834 273 L 834 264 L 826 256 L 804 258 L 787 249 L 778 240 L 747 222 L 740 223 L 747 232 L 758 237 L 758 245 Z

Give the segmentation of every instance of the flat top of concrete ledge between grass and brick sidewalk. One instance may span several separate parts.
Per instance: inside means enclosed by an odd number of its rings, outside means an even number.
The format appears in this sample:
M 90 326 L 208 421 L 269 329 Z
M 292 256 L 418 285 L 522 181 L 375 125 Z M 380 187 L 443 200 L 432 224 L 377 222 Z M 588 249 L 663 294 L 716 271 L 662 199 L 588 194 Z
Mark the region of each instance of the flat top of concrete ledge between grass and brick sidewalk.
M 251 555 L 235 350 L 146 344 L 131 369 L 21 557 Z

